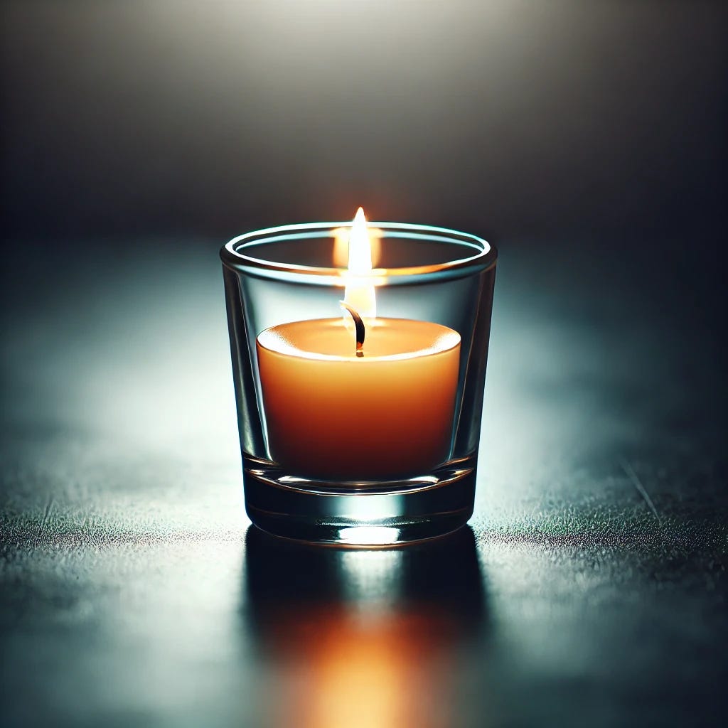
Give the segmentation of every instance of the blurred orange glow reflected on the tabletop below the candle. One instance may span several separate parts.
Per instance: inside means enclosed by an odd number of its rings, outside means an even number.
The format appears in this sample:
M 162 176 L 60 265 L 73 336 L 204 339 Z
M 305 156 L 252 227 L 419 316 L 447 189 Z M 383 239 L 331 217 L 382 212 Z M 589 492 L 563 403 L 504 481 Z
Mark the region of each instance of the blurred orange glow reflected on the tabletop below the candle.
M 451 630 L 422 614 L 299 614 L 280 625 L 281 727 L 432 728 L 447 724 Z

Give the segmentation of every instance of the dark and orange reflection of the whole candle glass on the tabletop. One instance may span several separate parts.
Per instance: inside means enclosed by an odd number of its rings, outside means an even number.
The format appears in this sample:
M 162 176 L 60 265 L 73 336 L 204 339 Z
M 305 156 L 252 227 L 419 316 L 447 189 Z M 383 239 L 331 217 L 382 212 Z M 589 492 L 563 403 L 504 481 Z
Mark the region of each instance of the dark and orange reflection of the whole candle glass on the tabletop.
M 264 724 L 453 726 L 459 657 L 486 633 L 475 538 L 400 550 L 283 542 L 250 527 L 248 630 L 266 676 Z

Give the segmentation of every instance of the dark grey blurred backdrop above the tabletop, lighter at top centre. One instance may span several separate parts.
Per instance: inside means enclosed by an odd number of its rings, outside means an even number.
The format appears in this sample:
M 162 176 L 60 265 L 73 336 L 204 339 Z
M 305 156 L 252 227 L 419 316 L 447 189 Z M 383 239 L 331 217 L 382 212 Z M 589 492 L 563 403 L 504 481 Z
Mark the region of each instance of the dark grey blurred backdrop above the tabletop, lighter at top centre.
M 3 15 L 7 234 L 224 238 L 357 205 L 615 246 L 695 250 L 721 230 L 720 3 L 31 0 Z

